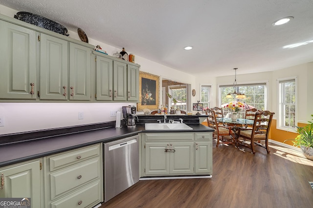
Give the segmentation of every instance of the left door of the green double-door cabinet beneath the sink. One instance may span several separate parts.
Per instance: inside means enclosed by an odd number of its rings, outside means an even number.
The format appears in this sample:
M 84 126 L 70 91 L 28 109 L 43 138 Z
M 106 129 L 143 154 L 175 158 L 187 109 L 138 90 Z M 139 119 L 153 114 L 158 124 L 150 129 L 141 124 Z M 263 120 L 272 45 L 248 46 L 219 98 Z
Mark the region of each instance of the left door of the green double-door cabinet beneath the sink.
M 165 152 L 169 143 L 146 143 L 146 175 L 164 175 L 170 173 L 170 152 Z

